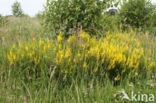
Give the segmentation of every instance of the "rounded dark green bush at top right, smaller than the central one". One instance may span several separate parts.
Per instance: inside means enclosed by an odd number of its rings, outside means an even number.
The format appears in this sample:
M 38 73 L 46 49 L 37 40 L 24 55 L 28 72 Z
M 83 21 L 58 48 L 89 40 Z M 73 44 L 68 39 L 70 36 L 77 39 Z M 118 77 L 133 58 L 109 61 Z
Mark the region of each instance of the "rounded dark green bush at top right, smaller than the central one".
M 150 0 L 124 0 L 120 9 L 120 19 L 124 26 L 140 28 L 150 25 L 153 6 Z

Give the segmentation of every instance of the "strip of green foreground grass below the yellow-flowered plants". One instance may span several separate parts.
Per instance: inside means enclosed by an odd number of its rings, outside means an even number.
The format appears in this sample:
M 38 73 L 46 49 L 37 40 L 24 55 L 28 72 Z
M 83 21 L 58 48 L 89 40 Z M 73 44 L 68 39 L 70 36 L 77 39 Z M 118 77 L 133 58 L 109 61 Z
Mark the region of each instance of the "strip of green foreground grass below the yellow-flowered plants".
M 70 85 L 60 85 L 57 79 L 46 84 L 47 80 L 36 80 L 30 85 L 25 84 L 20 78 L 5 81 L 5 84 L 1 86 L 0 101 L 5 103 L 23 101 L 28 103 L 129 103 L 121 101 L 122 94 L 118 94 L 119 91 L 125 90 L 129 95 L 131 91 L 136 94 L 140 92 L 156 95 L 154 86 L 140 80 L 134 85 L 126 80 L 118 86 L 114 86 L 108 79 L 105 79 L 103 83 L 96 79 L 90 81 L 74 79 Z M 41 83 L 37 88 L 38 82 Z

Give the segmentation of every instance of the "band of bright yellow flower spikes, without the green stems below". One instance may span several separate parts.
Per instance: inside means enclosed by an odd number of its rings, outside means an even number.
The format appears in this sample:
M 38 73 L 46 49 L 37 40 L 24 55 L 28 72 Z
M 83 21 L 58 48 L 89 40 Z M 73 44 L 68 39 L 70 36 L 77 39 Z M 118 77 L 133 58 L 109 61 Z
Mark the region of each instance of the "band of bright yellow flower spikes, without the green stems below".
M 81 65 L 82 68 L 92 67 L 91 73 L 100 71 L 101 67 L 106 67 L 107 71 L 112 70 L 116 73 L 116 80 L 120 80 L 116 69 L 120 68 L 120 72 L 127 73 L 129 70 L 130 72 L 137 71 L 141 63 L 146 65 L 143 68 L 155 66 L 155 62 L 151 62 L 151 51 L 149 50 L 149 57 L 146 57 L 144 49 L 140 46 L 141 42 L 133 35 L 109 32 L 104 38 L 96 38 L 81 31 L 79 38 L 74 35 L 62 41 L 63 37 L 60 33 L 56 40 L 51 42 L 49 38 L 46 41 L 40 38 L 38 41 L 19 43 L 19 46 L 13 45 L 10 48 L 6 59 L 10 64 L 29 59 L 39 65 L 45 57 L 47 64 L 51 64 L 50 61 L 55 61 L 54 64 L 62 67 L 66 64 L 65 69 L 59 71 L 65 73 L 71 73 L 76 65 Z M 32 66 L 32 64 L 28 65 Z

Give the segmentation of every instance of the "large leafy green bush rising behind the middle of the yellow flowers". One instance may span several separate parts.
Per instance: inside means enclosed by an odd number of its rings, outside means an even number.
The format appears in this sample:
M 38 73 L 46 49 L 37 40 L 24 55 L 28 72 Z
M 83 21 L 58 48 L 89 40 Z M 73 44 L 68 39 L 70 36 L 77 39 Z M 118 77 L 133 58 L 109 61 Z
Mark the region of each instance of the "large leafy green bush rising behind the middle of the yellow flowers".
M 43 13 L 43 27 L 55 36 L 76 34 L 83 29 L 96 34 L 102 29 L 102 14 L 110 0 L 47 0 Z

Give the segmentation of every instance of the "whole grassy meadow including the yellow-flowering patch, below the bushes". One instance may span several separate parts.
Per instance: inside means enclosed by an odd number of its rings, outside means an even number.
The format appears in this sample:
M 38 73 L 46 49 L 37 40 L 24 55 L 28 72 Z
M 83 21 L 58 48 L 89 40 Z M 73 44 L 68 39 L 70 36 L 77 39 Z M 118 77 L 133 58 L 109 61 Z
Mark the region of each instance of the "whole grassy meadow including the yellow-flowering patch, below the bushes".
M 12 16 L 0 27 L 1 103 L 137 102 L 121 100 L 123 91 L 156 96 L 154 34 L 118 30 L 99 38 L 80 30 L 52 39 L 42 33 L 38 18 Z

